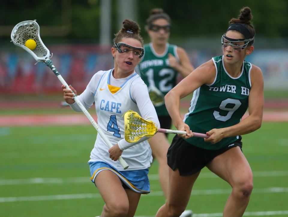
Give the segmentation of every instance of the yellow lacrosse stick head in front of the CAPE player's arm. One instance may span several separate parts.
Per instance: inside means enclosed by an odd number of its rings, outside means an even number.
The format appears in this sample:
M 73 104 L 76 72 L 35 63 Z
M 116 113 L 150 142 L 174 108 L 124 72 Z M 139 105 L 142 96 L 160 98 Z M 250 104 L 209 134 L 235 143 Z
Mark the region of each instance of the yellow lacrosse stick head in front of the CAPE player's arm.
M 157 126 L 153 121 L 145 120 L 137 112 L 129 110 L 124 113 L 125 140 L 137 142 L 143 136 L 152 137 L 157 133 Z

